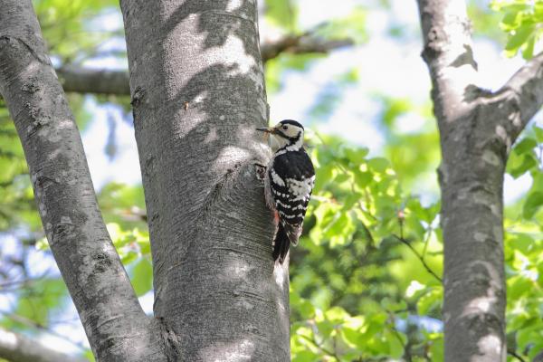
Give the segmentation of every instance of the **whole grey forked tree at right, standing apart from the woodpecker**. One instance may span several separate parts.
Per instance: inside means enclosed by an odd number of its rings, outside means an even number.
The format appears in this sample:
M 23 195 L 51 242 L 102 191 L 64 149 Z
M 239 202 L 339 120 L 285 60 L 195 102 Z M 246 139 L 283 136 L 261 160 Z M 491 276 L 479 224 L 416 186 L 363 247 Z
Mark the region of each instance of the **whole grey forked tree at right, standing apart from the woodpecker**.
M 418 0 L 442 164 L 445 361 L 504 361 L 503 175 L 543 102 L 543 55 L 497 92 L 477 86 L 463 0 Z

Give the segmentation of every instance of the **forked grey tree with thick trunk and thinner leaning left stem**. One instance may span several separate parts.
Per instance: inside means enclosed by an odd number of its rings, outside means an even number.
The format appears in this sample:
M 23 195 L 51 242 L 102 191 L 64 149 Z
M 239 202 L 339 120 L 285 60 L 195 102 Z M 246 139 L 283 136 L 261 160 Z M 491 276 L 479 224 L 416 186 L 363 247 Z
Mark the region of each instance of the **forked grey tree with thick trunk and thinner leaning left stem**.
M 268 152 L 254 1 L 122 2 L 155 317 L 101 219 L 30 0 L 0 0 L 0 93 L 43 226 L 98 361 L 288 361 L 288 266 L 254 163 Z M 137 170 L 134 170 L 137 172 Z

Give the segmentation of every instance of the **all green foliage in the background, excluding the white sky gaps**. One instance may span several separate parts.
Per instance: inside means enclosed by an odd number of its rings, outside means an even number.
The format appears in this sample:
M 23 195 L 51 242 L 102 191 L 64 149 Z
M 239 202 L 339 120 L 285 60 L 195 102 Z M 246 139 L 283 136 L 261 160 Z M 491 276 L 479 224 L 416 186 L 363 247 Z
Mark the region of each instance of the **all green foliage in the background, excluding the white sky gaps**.
M 379 3 L 390 6 L 388 0 Z M 120 28 L 104 31 L 101 26 L 104 17 L 117 11 L 117 1 L 36 0 L 34 5 L 55 61 L 70 64 L 97 55 L 126 56 L 100 47 L 122 34 Z M 277 33 L 349 38 L 356 44 L 371 35 L 367 19 L 372 14 L 367 7 L 309 30 L 300 26 L 301 11 L 292 0 L 266 0 L 263 21 Z M 507 54 L 533 55 L 542 29 L 541 2 L 495 0 L 491 9 L 486 3 L 471 2 L 469 12 L 478 34 L 499 40 L 507 34 Z M 498 32 L 495 22 L 499 16 L 503 32 Z M 405 29 L 392 24 L 391 32 L 399 36 Z M 307 72 L 325 56 L 282 53 L 266 63 L 267 89 L 270 93 L 281 90 L 285 74 Z M 328 81 L 317 92 L 308 118 L 329 119 L 345 90 L 363 81 L 356 68 Z M 127 99 L 95 99 L 129 110 Z M 429 268 L 437 276 L 443 271 L 435 177 L 440 157 L 437 130 L 430 104 L 386 95 L 376 99 L 382 105 L 378 124 L 386 138 L 379 155 L 339 138 L 316 135 L 310 139 L 318 174 L 300 246 L 291 252 L 293 361 L 408 357 L 443 361 L 443 287 L 426 271 Z M 85 97 L 70 95 L 69 100 L 84 131 L 93 121 L 84 107 Z M 424 123 L 405 134 L 399 129 L 411 116 L 423 118 Z M 505 210 L 507 330 L 510 348 L 526 360 L 543 349 L 543 321 L 538 317 L 543 305 L 542 152 L 543 129 L 535 126 L 512 148 L 507 165 L 510 176 L 531 178 L 529 189 Z M 51 256 L 33 203 L 22 148 L 1 100 L 0 167 L 0 230 L 18 239 L 21 258 L 15 258 L 13 265 L 25 278 L 28 275 L 21 266 L 25 255 L 37 247 L 43 258 Z M 143 190 L 111 183 L 101 188 L 98 198 L 113 243 L 136 293 L 142 296 L 152 290 Z M 1 262 L 12 261 L 4 258 Z M 2 282 L 12 277 L 2 275 Z M 0 291 L 12 293 L 14 300 L 9 310 L 0 310 L 0 324 L 35 334 L 62 319 L 69 297 L 58 274 L 27 279 L 14 290 L 8 283 L 0 284 Z M 89 350 L 86 357 L 91 359 Z

